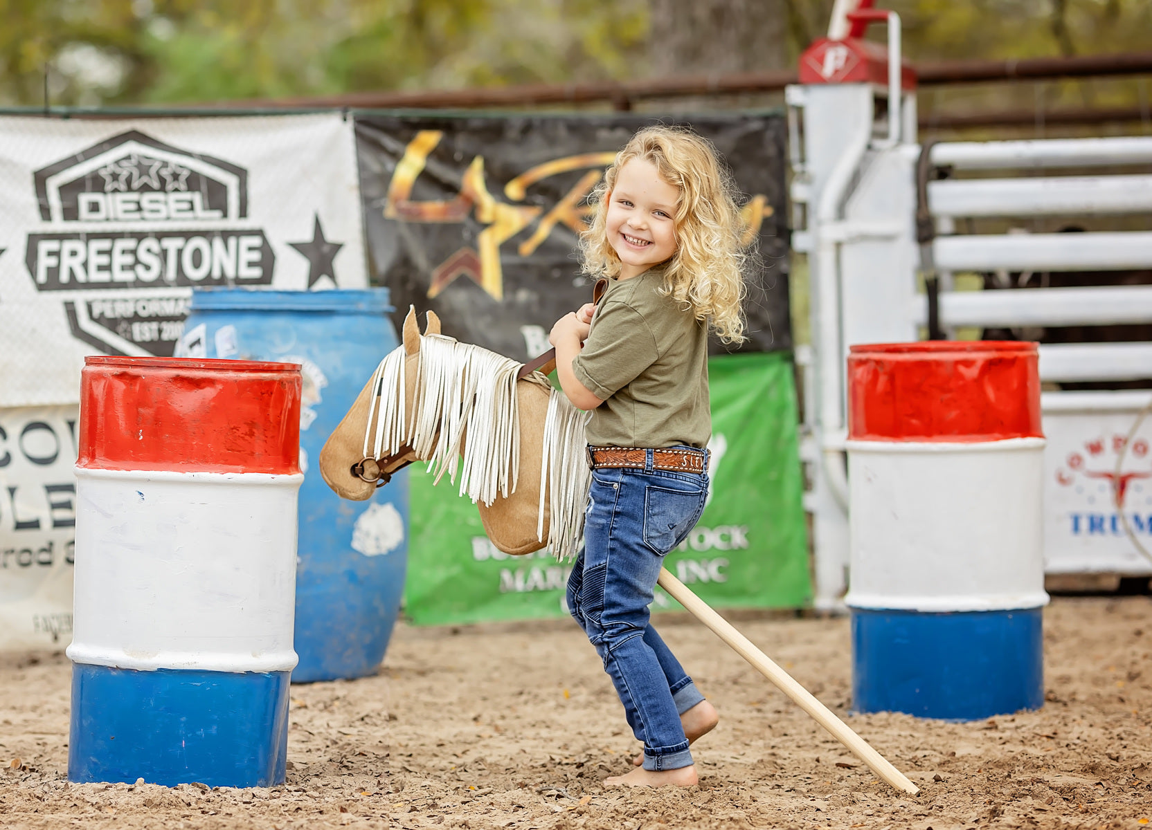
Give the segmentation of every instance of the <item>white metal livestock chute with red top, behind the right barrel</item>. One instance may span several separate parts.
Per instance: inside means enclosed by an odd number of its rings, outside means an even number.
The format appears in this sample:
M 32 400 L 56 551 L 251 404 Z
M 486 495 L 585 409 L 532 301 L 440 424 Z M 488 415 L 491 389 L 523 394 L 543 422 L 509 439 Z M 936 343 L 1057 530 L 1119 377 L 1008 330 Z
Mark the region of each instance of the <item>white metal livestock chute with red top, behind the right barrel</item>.
M 1071 327 L 1152 323 L 1152 284 L 1101 284 L 1152 267 L 1152 137 L 920 144 L 899 16 L 871 5 L 836 3 L 786 92 L 793 246 L 811 273 L 812 347 L 797 363 L 816 604 L 842 608 L 848 580 L 849 349 L 963 329 L 1066 333 L 1039 347 L 1045 571 L 1146 580 L 1152 393 L 1119 387 L 1152 379 L 1152 342 L 1076 342 Z M 863 39 L 872 22 L 887 50 Z M 1030 288 L 958 290 L 971 275 Z

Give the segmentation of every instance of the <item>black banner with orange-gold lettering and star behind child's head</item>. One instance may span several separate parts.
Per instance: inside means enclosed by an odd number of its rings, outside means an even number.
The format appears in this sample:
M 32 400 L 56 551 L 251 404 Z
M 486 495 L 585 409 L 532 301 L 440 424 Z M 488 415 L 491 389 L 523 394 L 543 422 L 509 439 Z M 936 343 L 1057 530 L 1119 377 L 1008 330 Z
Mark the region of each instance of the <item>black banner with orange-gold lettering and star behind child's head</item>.
M 790 349 L 786 124 L 775 114 L 358 117 L 371 280 L 391 289 L 397 332 L 415 305 L 462 342 L 517 360 L 545 351 L 552 323 L 590 299 L 576 252 L 586 196 L 650 123 L 691 127 L 730 166 L 763 262 L 749 275 L 740 350 Z

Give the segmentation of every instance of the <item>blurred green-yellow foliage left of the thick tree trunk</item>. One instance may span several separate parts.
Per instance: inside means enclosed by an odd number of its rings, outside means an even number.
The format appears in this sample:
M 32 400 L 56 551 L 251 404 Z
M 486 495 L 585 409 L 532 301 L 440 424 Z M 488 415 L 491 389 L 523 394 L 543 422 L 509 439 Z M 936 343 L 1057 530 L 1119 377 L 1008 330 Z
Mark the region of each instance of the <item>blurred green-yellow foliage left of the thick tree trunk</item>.
M 647 35 L 645 0 L 0 0 L 0 20 L 9 105 L 609 78 Z

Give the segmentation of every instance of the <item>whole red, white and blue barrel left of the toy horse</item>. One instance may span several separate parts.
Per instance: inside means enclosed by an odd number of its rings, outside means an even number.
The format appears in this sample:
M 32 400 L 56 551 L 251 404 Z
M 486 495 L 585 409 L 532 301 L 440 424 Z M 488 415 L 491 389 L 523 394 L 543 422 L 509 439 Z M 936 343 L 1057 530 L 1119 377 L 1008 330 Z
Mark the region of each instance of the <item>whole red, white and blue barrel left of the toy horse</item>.
M 300 366 L 90 357 L 68 778 L 285 779 Z

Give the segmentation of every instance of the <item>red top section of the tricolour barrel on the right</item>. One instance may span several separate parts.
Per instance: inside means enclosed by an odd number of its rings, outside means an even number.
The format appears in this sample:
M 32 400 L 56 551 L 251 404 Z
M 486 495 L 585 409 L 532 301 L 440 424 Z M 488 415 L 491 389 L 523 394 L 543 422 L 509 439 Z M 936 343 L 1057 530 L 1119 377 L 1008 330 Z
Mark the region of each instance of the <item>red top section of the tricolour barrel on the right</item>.
M 976 442 L 1043 435 L 1036 343 L 926 341 L 850 349 L 850 440 Z

